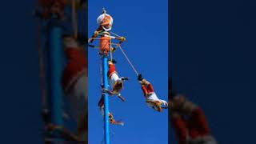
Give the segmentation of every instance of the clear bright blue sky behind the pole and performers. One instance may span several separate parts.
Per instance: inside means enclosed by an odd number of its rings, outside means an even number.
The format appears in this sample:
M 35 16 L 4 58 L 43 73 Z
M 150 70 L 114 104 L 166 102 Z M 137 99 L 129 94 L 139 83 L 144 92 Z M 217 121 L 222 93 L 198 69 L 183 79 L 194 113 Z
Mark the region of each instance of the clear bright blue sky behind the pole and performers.
M 155 1 L 89 1 L 89 36 L 98 28 L 96 18 L 105 7 L 114 18 L 112 31 L 126 37 L 126 54 L 143 77 L 153 85 L 159 98 L 168 96 L 168 5 L 167 0 Z M 98 50 L 89 50 L 89 143 L 99 144 L 103 138 L 103 119 L 98 110 L 100 71 Z M 114 54 L 118 74 L 130 78 L 122 95 L 126 102 L 110 98 L 110 111 L 125 126 L 110 126 L 113 144 L 168 142 L 168 112 L 158 113 L 146 106 L 145 98 L 134 71 L 122 53 Z

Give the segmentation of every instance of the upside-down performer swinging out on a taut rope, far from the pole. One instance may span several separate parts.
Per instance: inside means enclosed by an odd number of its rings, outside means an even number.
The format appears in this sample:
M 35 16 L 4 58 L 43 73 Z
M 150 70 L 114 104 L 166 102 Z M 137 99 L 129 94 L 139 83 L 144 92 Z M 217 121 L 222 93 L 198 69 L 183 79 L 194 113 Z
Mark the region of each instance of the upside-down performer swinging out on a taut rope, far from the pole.
M 150 82 L 146 81 L 146 79 L 142 78 L 142 74 L 138 75 L 138 82 L 141 84 L 143 94 L 146 98 L 146 104 L 148 106 L 152 107 L 158 112 L 162 112 L 162 108 L 167 108 L 168 103 L 158 98 L 157 94 L 154 92 L 153 86 Z

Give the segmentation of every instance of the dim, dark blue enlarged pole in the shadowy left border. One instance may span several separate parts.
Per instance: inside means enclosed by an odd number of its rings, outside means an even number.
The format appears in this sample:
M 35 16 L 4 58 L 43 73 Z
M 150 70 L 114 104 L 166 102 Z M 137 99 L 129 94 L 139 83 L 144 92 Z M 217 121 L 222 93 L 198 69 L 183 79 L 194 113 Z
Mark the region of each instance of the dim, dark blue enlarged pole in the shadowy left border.
M 62 126 L 62 27 L 53 20 L 48 28 L 50 118 L 52 124 Z

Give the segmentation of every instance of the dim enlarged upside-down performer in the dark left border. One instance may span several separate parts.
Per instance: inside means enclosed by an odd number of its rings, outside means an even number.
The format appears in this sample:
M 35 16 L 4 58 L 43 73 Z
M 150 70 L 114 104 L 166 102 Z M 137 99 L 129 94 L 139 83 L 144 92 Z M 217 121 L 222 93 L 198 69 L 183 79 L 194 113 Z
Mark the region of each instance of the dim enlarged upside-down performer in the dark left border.
M 64 37 L 63 40 L 67 62 L 62 75 L 62 88 L 77 122 L 77 135 L 82 141 L 87 141 L 88 67 L 86 50 L 70 36 Z

